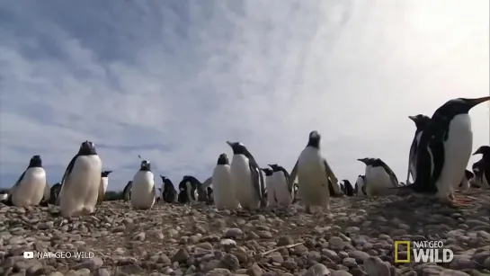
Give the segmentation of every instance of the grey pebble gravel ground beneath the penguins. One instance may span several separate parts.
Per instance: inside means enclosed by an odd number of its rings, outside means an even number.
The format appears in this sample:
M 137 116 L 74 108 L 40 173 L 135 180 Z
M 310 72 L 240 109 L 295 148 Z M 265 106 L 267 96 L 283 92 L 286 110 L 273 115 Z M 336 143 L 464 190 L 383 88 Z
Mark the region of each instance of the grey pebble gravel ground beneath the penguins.
M 0 203 L 0 275 L 490 275 L 490 191 L 451 209 L 426 198 L 333 199 L 331 211 L 218 211 L 195 204 L 151 210 L 103 202 L 93 216 Z M 394 263 L 393 241 L 441 240 L 451 263 Z M 24 251 L 92 258 L 24 259 Z M 402 251 L 401 254 L 404 254 Z

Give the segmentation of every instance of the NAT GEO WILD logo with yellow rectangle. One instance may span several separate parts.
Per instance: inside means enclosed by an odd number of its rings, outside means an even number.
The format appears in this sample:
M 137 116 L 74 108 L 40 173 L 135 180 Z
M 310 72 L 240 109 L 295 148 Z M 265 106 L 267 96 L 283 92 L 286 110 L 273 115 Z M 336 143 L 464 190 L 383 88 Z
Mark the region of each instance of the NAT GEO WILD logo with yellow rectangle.
M 450 263 L 453 258 L 441 241 L 395 241 L 395 263 Z

